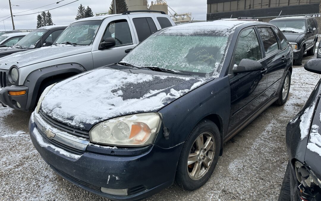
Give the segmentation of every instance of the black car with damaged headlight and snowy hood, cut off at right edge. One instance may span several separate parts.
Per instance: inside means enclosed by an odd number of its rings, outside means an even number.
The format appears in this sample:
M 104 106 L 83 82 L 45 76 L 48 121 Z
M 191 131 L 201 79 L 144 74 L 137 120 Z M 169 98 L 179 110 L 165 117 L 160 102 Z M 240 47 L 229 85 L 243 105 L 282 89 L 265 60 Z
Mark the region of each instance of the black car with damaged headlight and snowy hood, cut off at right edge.
M 321 59 L 311 59 L 304 68 L 321 74 Z M 286 127 L 289 163 L 279 201 L 321 200 L 321 79 L 301 111 Z

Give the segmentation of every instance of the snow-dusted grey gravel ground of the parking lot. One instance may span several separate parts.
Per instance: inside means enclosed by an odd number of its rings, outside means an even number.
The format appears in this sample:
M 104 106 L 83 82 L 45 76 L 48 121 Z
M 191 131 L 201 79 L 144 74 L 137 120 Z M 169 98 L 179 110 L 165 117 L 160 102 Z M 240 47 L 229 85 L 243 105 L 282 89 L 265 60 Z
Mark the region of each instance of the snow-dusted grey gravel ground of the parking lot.
M 303 63 L 315 56 L 304 57 Z M 146 200 L 277 200 L 287 164 L 285 126 L 305 104 L 320 75 L 295 66 L 290 95 L 224 145 L 210 180 L 187 192 L 176 185 Z M 31 113 L 0 108 L 0 200 L 107 200 L 54 173 L 34 149 Z

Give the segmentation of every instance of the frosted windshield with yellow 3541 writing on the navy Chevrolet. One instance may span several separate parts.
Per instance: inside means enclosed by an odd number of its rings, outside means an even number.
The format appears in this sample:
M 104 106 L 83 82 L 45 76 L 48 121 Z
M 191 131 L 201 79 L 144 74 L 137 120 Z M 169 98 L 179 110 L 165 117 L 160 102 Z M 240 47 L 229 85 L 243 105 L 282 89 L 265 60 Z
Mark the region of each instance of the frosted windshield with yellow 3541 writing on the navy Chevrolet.
M 124 57 L 137 67 L 159 67 L 203 77 L 218 77 L 229 44 L 223 32 L 152 35 Z

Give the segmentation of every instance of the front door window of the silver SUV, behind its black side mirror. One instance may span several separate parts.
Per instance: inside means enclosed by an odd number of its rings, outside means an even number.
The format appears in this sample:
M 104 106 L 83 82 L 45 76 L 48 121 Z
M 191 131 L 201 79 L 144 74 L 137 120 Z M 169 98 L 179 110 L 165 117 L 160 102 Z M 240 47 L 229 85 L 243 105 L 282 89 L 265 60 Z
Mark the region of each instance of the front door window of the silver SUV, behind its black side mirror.
M 132 35 L 127 21 L 117 21 L 108 24 L 103 39 L 114 38 L 116 46 L 133 44 Z

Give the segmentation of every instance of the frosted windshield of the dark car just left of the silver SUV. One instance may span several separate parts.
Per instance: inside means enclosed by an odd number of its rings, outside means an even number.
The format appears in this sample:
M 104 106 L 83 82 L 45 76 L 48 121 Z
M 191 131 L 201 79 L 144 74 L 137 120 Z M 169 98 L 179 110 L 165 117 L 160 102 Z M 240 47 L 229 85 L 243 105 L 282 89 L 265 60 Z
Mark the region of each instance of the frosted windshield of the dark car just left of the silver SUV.
M 18 41 L 13 47 L 34 48 L 41 39 L 41 36 L 46 32 L 48 32 L 46 29 L 35 29 Z

